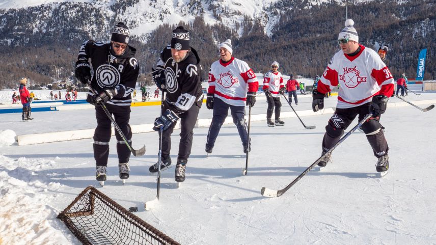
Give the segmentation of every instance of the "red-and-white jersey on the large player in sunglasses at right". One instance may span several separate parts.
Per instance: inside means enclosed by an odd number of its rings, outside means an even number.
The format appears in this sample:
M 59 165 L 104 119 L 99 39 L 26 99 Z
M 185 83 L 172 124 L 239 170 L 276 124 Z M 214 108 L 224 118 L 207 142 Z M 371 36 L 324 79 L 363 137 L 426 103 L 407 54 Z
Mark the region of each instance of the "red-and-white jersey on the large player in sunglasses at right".
M 360 45 L 360 44 L 359 44 Z M 327 93 L 340 84 L 337 108 L 350 108 L 368 103 L 374 95 L 390 97 L 394 78 L 377 52 L 360 45 L 356 56 L 339 50 L 318 82 L 318 92 Z

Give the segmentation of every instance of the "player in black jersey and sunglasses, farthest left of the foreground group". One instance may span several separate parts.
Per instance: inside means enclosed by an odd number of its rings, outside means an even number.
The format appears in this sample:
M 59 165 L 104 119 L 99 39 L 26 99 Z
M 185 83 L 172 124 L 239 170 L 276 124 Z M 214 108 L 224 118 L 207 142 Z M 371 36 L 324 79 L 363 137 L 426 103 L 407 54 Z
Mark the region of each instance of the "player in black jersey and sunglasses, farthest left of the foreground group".
M 139 67 L 134 58 L 136 49 L 128 45 L 129 29 L 123 23 L 115 25 L 110 42 L 84 42 L 77 57 L 75 76 L 81 83 L 91 80 L 91 87 L 97 91 L 88 93 L 87 101 L 95 105 L 97 127 L 94 132 L 94 158 L 96 161 L 96 179 L 106 180 L 106 166 L 111 140 L 111 120 L 100 106 L 104 103 L 107 110 L 114 116 L 115 122 L 131 143 L 132 132 L 129 125 L 131 93 L 134 90 Z M 91 59 L 91 66 L 88 60 Z M 92 77 L 92 78 L 91 78 Z M 118 168 L 121 179 L 129 177 L 130 150 L 125 145 L 120 134 L 117 138 Z

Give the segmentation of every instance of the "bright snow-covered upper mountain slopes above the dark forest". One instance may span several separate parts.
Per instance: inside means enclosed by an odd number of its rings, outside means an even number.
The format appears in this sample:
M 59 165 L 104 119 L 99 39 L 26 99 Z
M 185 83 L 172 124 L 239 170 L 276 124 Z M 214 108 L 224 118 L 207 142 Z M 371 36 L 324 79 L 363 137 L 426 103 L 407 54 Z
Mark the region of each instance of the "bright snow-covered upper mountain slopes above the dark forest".
M 208 24 L 223 23 L 232 29 L 242 29 L 237 23 L 249 17 L 259 21 L 270 36 L 271 28 L 279 20 L 280 14 L 289 8 L 309 8 L 314 5 L 343 2 L 343 0 L 2 0 L 0 14 L 9 12 L 9 15 L 14 16 L 23 11 L 37 14 L 36 18 L 27 19 L 26 22 L 14 21 L 15 29 L 25 25 L 32 28 L 34 33 L 52 31 L 49 30 L 50 28 L 62 29 L 64 26 L 56 27 L 56 23 L 74 24 L 77 22 L 74 19 L 91 17 L 91 21 L 84 20 L 91 36 L 98 35 L 102 30 L 100 24 L 124 21 L 132 29 L 131 33 L 144 37 L 160 24 L 192 21 L 199 15 L 203 16 Z M 93 14 L 89 15 L 85 12 Z M 58 17 L 63 19 L 56 21 Z M 89 26 L 89 23 L 94 24 Z M 7 21 L 2 21 L 0 29 L 4 29 L 6 25 L 8 25 Z M 77 28 L 83 27 L 77 26 Z M 237 31 L 240 33 L 242 30 Z

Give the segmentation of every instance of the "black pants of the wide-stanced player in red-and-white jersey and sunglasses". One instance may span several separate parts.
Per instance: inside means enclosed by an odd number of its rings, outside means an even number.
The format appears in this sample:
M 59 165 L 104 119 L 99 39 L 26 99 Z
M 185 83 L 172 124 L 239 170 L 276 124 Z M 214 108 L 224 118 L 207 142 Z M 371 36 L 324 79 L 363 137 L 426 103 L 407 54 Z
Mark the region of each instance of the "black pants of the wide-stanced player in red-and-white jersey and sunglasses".
M 327 151 L 338 143 L 344 134 L 344 130 L 347 129 L 356 116 L 359 115 L 359 121 L 361 121 L 366 115 L 371 113 L 370 108 L 371 102 L 351 108 L 336 108 L 335 113 L 329 120 L 329 124 L 325 126 L 322 151 Z M 370 118 L 362 124 L 362 130 L 365 132 L 366 138 L 376 157 L 388 154 L 389 150 L 385 134 L 383 130 L 380 130 L 381 127 L 382 124 L 380 124 L 378 117 Z

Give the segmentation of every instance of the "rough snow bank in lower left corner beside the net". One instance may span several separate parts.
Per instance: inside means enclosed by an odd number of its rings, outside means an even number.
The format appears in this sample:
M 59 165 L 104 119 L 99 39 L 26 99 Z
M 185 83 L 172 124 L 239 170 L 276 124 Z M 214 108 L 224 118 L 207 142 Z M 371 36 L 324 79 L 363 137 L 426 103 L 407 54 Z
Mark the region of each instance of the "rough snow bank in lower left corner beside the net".
M 56 220 L 58 210 L 49 206 L 61 195 L 61 185 L 48 182 L 46 174 L 38 172 L 55 167 L 56 162 L 24 157 L 13 160 L 3 155 L 0 162 L 0 243 L 70 243 L 62 223 Z

